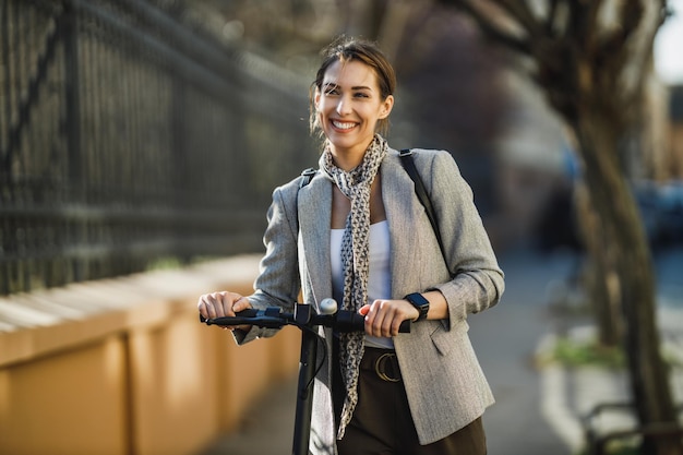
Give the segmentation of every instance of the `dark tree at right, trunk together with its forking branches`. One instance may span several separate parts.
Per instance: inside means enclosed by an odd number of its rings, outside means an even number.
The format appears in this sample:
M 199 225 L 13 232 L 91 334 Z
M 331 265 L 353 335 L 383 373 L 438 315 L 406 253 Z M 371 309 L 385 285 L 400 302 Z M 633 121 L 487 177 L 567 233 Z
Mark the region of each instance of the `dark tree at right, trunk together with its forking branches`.
M 642 121 L 643 88 L 666 0 L 548 1 L 538 14 L 528 1 L 442 0 L 469 14 L 484 35 L 534 65 L 528 73 L 574 131 L 584 160 L 588 212 L 597 232 L 589 253 L 603 291 L 615 283 L 624 319 L 624 348 L 640 426 L 676 423 L 660 356 L 655 277 L 643 221 L 618 149 Z M 537 4 L 538 5 L 538 4 Z M 542 9 L 542 8 L 541 8 Z M 514 26 L 510 26 L 512 23 Z M 614 274 L 610 271 L 613 268 Z M 614 278 L 612 278 L 614 277 Z M 599 301 L 598 304 L 608 304 Z M 645 439 L 644 454 L 683 455 L 680 438 Z

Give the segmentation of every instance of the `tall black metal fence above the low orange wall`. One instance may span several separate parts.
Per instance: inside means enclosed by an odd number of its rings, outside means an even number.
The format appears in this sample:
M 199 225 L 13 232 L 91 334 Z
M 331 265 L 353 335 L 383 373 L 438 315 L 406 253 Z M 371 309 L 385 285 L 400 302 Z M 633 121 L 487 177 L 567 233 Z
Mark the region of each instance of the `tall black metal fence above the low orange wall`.
M 183 13 L 0 0 L 0 294 L 261 250 L 273 187 L 316 159 L 307 77 Z

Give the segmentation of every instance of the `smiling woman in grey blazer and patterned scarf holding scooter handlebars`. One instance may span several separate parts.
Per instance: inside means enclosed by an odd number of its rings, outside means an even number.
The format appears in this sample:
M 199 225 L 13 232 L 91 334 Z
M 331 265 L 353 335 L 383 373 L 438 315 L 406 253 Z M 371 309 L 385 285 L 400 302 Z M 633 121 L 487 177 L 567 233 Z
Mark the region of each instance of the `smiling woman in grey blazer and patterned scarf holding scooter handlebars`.
M 315 380 L 312 453 L 486 454 L 481 415 L 493 396 L 466 319 L 495 304 L 504 284 L 471 190 L 448 153 L 416 152 L 442 254 L 398 153 L 379 134 L 394 70 L 362 40 L 342 38 L 323 56 L 311 87 L 311 125 L 325 139 L 320 171 L 274 191 L 254 294 L 207 294 L 199 310 L 291 311 L 302 290 L 315 308 L 333 296 L 364 315 L 364 334 L 321 331 L 332 360 Z M 419 322 L 399 334 L 405 320 Z M 233 333 L 243 344 L 274 332 Z

